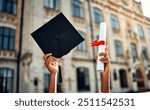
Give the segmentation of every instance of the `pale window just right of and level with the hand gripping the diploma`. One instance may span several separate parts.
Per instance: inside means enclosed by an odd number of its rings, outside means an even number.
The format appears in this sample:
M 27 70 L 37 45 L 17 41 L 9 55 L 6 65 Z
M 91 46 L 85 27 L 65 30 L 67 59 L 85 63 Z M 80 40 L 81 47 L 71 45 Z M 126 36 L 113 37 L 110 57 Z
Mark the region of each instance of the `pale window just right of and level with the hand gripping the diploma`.
M 120 41 L 115 40 L 116 56 L 123 56 L 123 48 Z

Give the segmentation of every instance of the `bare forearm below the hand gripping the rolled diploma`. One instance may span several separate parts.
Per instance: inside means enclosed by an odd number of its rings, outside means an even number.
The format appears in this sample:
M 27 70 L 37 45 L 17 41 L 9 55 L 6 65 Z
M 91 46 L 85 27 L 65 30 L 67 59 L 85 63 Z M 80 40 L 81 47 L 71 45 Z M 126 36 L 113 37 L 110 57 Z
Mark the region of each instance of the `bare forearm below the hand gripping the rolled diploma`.
M 102 93 L 110 92 L 110 79 L 108 73 L 101 74 L 101 92 Z

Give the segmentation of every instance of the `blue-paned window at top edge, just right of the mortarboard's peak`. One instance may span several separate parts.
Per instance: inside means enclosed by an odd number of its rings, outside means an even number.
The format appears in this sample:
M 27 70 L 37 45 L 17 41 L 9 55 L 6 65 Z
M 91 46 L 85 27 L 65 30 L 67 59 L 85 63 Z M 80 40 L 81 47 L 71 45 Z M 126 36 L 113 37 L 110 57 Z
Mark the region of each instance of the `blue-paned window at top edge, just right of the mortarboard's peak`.
M 72 15 L 79 18 L 83 17 L 83 4 L 79 0 L 72 0 Z

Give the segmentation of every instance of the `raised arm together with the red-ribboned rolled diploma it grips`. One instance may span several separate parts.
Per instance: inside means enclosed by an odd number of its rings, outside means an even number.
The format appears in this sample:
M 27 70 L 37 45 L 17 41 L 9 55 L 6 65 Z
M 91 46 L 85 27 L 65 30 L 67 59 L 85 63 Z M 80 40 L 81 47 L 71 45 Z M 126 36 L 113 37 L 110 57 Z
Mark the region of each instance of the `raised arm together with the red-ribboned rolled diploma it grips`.
M 108 46 L 106 44 L 106 22 L 100 24 L 99 40 L 95 40 L 91 46 L 98 46 L 98 54 L 96 55 L 97 71 L 101 72 L 101 92 L 108 93 L 109 89 L 109 73 L 110 60 L 108 55 Z

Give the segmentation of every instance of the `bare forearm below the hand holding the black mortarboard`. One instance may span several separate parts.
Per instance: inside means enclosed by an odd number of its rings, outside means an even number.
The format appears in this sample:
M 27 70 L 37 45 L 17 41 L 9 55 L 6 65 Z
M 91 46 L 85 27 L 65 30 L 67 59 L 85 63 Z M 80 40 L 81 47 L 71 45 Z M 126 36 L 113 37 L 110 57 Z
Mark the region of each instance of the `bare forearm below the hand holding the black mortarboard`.
M 50 75 L 49 93 L 57 92 L 57 74 Z

